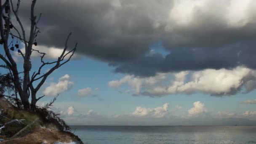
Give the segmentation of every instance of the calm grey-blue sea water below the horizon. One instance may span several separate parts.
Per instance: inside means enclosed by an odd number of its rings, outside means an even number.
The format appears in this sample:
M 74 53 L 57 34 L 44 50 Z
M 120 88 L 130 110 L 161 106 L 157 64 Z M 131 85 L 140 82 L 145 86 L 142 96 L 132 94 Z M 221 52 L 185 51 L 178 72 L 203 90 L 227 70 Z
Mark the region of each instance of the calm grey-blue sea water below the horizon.
M 72 126 L 85 144 L 256 144 L 256 126 Z

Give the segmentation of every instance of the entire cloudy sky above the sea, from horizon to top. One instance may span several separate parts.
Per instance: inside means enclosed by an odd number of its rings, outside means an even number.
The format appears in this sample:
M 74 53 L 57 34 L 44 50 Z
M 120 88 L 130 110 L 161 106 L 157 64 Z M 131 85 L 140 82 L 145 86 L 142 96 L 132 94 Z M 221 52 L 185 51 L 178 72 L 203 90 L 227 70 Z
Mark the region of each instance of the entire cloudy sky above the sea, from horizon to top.
M 25 29 L 30 4 L 21 1 Z M 255 125 L 255 7 L 255 0 L 39 0 L 34 48 L 45 61 L 61 55 L 69 32 L 69 50 L 78 45 L 48 77 L 38 105 L 59 95 L 52 110 L 69 125 Z M 38 67 L 32 53 L 31 71 Z

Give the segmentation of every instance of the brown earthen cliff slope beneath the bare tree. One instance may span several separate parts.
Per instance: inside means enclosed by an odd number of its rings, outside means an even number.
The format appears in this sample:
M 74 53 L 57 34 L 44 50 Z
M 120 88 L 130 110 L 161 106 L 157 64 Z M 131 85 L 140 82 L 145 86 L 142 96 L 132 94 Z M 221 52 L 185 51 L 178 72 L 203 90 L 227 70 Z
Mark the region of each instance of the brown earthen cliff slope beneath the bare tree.
M 0 124 L 10 120 L 22 120 L 22 123 L 10 123 L 0 131 L 0 144 L 83 144 L 69 131 L 62 131 L 54 123 L 45 123 L 34 112 L 17 109 L 0 97 Z M 0 125 L 1 126 L 1 125 Z

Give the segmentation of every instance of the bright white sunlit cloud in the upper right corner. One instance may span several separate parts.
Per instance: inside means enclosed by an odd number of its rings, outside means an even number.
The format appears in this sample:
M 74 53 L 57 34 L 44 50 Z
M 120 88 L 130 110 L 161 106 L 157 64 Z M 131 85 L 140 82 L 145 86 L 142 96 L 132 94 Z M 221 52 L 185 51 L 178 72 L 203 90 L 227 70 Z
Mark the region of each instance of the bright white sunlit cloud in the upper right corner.
M 173 25 L 189 26 L 196 21 L 196 15 L 204 13 L 212 18 L 218 16 L 229 27 L 243 27 L 253 21 L 255 5 L 253 0 L 174 0 L 169 19 Z

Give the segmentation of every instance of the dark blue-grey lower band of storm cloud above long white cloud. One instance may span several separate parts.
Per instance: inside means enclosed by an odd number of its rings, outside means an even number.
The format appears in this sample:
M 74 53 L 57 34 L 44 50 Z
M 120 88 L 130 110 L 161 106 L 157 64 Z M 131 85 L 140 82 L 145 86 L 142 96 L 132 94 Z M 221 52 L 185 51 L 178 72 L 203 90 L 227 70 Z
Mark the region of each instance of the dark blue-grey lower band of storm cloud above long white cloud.
M 135 74 L 141 77 L 157 72 L 179 72 L 184 70 L 232 69 L 245 66 L 256 69 L 256 48 L 251 45 L 231 45 L 224 48 L 201 48 L 173 51 L 167 56 L 155 53 L 134 61 L 109 64 L 117 67 L 115 72 Z

